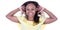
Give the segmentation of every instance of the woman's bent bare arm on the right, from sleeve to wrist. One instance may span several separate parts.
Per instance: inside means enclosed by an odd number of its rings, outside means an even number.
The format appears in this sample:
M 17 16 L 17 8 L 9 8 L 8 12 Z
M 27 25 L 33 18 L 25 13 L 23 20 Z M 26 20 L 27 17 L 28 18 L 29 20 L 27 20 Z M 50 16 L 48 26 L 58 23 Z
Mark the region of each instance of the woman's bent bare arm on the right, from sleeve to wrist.
M 56 17 L 53 13 L 51 13 L 50 11 L 48 11 L 47 9 L 44 9 L 43 11 L 44 11 L 45 13 L 47 13 L 48 16 L 49 16 L 49 18 L 47 18 L 47 19 L 45 20 L 44 24 L 49 24 L 49 23 L 52 23 L 52 22 L 54 22 L 54 21 L 57 20 L 57 17 Z

